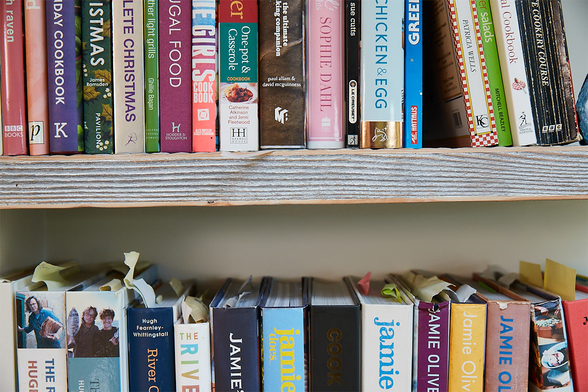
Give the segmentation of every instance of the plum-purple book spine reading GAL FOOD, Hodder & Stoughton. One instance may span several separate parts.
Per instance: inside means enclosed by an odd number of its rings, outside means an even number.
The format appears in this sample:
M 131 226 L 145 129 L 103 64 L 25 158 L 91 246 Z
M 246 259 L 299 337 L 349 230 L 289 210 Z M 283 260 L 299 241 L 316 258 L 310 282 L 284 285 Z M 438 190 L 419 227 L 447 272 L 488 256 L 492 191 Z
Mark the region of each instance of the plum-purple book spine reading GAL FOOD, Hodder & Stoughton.
M 159 1 L 161 152 L 192 152 L 192 2 Z

